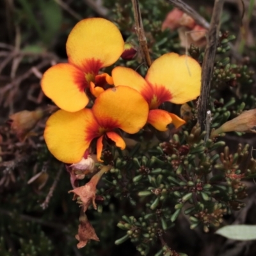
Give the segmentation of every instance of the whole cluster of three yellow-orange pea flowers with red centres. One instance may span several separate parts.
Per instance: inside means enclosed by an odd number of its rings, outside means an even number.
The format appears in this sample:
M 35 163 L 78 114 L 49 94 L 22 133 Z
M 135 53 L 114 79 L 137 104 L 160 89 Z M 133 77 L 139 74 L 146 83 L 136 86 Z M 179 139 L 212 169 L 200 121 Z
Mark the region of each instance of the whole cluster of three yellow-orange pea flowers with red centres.
M 78 163 L 95 141 L 99 161 L 104 143 L 125 148 L 122 134 L 134 134 L 150 124 L 166 131 L 185 121 L 159 106 L 183 104 L 200 93 L 201 68 L 189 56 L 164 54 L 141 77 L 127 67 L 115 67 L 111 76 L 100 68 L 115 63 L 124 52 L 124 40 L 115 24 L 101 18 L 81 20 L 67 40 L 68 63 L 47 70 L 42 90 L 60 108 L 50 116 L 44 138 L 51 153 L 64 163 Z

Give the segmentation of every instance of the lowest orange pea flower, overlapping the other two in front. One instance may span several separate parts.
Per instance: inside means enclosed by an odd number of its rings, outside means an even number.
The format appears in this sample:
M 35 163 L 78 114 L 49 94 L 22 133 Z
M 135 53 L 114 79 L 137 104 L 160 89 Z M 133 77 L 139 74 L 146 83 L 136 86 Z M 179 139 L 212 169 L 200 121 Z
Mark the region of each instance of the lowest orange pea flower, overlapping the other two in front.
M 122 129 L 134 134 L 146 124 L 148 104 L 136 90 L 127 86 L 109 88 L 100 93 L 92 109 L 71 113 L 60 109 L 46 122 L 44 138 L 50 152 L 64 163 L 78 163 L 97 138 L 97 159 L 103 139 L 109 138 L 117 147 L 125 148 L 118 134 Z

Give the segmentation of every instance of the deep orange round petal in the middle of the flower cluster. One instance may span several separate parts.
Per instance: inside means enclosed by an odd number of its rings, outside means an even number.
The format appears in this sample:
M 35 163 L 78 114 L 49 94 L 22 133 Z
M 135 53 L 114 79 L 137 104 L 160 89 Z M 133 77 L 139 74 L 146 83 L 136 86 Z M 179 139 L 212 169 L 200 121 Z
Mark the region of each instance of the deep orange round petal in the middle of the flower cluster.
M 148 104 L 136 90 L 117 86 L 100 93 L 92 111 L 102 128 L 120 128 L 133 134 L 147 122 Z

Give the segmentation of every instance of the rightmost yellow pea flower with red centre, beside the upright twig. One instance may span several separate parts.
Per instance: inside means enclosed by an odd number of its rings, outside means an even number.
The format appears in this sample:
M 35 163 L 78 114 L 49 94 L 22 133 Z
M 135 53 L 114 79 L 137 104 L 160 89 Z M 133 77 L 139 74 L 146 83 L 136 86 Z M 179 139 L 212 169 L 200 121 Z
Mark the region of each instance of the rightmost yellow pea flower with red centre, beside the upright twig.
M 155 60 L 145 79 L 125 67 L 115 67 L 112 77 L 115 86 L 129 86 L 141 93 L 150 109 L 147 122 L 159 131 L 166 131 L 166 126 L 171 123 L 176 128 L 185 123 L 179 116 L 157 109 L 163 102 L 183 104 L 200 94 L 200 65 L 189 56 L 173 52 Z

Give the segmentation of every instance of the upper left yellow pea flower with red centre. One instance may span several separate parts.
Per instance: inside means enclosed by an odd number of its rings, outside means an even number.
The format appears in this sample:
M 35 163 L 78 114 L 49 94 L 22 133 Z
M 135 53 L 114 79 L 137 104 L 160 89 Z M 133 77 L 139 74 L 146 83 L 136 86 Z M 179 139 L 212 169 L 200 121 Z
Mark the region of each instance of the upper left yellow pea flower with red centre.
M 81 20 L 70 32 L 66 44 L 68 63 L 49 68 L 42 77 L 42 90 L 61 109 L 76 112 L 89 102 L 86 90 L 97 95 L 100 86 L 113 84 L 99 70 L 115 63 L 124 51 L 124 40 L 109 20 Z

